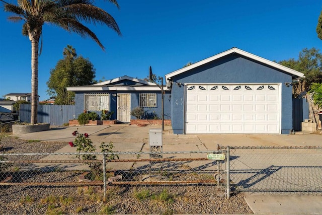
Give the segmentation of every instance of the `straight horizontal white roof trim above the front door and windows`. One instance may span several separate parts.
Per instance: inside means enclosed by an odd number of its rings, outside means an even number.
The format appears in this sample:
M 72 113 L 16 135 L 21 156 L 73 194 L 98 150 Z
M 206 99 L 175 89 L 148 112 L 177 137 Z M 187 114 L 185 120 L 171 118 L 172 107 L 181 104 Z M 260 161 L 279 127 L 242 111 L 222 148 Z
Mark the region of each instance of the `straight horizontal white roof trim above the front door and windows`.
M 164 86 L 164 91 L 169 91 L 169 89 Z M 157 86 L 155 87 L 67 87 L 67 91 L 160 91 L 161 89 Z

